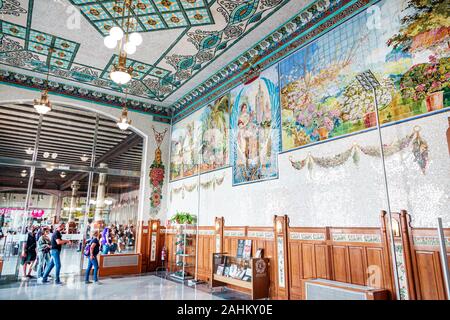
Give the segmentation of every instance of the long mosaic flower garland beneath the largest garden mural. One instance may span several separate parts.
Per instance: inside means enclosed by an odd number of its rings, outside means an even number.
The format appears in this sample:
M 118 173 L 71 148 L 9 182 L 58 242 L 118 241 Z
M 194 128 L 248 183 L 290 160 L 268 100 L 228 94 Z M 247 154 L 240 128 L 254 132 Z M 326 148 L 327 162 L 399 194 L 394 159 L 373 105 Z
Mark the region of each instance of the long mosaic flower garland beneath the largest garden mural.
M 414 161 L 418 164 L 423 174 L 425 174 L 428 166 L 428 143 L 420 136 L 420 127 L 415 127 L 414 132 L 400 140 L 394 141 L 391 144 L 383 145 L 384 156 L 389 157 L 398 152 L 403 151 L 410 145 L 412 145 L 412 154 Z M 302 160 L 293 160 L 289 158 L 291 165 L 296 170 L 302 170 L 305 166 L 308 170 L 312 170 L 314 165 L 321 168 L 335 168 L 346 163 L 352 158 L 355 164 L 359 162 L 360 153 L 370 157 L 381 158 L 381 150 L 379 146 L 361 146 L 359 144 L 353 144 L 349 149 L 344 152 L 338 153 L 330 157 L 315 157 L 311 154 Z

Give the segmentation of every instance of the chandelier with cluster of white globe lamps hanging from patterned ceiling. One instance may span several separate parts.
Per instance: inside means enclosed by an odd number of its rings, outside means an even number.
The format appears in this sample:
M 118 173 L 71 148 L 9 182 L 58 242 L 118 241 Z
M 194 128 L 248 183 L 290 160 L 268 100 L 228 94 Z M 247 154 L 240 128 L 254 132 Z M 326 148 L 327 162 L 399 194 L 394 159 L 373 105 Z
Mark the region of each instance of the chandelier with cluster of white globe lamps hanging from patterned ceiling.
M 120 6 L 120 2 L 123 5 Z M 127 84 L 132 77 L 133 68 L 127 67 L 127 55 L 136 52 L 136 47 L 142 44 L 142 36 L 135 31 L 138 25 L 136 18 L 133 18 L 132 11 L 139 6 L 140 0 L 133 4 L 133 0 L 116 0 L 113 10 L 121 13 L 120 27 L 115 26 L 109 31 L 109 36 L 104 39 L 104 44 L 108 49 L 119 49 L 119 61 L 114 64 L 110 73 L 112 81 L 119 85 Z

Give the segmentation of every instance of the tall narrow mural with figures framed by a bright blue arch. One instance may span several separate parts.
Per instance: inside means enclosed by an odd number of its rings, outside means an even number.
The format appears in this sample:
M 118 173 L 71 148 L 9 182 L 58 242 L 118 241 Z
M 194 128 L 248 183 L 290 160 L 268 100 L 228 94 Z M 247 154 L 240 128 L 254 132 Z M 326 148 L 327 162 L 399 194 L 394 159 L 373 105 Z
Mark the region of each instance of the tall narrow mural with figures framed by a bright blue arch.
M 250 84 L 231 91 L 230 155 L 233 184 L 278 176 L 281 119 L 278 69 L 272 67 Z

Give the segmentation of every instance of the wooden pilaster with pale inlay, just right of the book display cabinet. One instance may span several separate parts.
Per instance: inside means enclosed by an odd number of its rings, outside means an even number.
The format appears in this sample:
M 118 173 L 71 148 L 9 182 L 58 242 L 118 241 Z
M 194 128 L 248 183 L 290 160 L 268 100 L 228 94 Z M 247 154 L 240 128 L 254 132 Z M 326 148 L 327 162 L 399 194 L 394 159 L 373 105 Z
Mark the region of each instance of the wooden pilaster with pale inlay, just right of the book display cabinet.
M 288 225 L 287 215 L 274 216 L 275 233 L 275 268 L 277 292 L 272 294 L 277 299 L 289 299 L 289 261 L 288 261 Z

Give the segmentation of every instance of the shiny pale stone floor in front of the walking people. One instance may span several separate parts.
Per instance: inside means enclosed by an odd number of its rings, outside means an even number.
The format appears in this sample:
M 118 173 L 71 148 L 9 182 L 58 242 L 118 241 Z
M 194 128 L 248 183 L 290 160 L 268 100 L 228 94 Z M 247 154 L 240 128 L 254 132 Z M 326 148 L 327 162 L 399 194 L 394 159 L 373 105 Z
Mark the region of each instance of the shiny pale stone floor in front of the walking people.
M 85 284 L 80 276 L 63 277 L 64 285 L 38 284 L 36 280 L 0 286 L 0 300 L 220 300 L 210 292 L 154 275 L 104 278 Z

